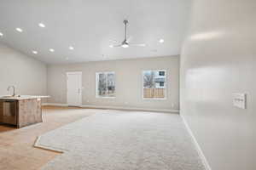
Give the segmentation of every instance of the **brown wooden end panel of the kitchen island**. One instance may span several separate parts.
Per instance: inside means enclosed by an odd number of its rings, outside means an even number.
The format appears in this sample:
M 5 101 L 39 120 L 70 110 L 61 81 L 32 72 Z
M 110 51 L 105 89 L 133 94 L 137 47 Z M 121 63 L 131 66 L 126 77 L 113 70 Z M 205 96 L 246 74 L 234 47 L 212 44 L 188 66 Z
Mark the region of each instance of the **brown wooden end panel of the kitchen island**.
M 17 127 L 25 127 L 43 122 L 41 99 L 19 100 L 19 113 Z

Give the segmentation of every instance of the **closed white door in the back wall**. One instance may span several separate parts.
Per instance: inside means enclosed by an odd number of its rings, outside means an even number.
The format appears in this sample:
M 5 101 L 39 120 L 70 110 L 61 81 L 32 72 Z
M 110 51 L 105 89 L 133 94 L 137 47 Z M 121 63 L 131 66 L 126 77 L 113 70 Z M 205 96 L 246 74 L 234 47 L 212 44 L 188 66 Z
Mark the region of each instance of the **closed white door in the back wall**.
M 67 72 L 67 105 L 82 105 L 82 72 Z

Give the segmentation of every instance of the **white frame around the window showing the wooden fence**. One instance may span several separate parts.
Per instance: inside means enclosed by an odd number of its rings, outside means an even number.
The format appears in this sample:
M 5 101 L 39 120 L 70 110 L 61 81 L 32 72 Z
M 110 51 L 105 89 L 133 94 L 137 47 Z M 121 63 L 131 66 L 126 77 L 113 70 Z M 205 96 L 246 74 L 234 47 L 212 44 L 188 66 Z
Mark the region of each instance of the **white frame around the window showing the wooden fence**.
M 166 75 L 165 75 L 165 76 L 166 76 L 165 98 L 144 98 L 144 72 L 145 72 L 145 71 L 165 71 L 165 73 L 166 73 Z M 168 84 L 168 83 L 167 83 L 167 70 L 165 70 L 165 69 L 159 69 L 159 70 L 158 70 L 158 69 L 148 69 L 148 70 L 143 70 L 143 71 L 142 71 L 142 75 L 143 75 L 143 76 L 142 76 L 142 80 L 143 80 L 143 82 L 142 82 L 142 84 L 143 84 L 143 88 L 142 88 L 142 91 L 143 91 L 143 93 L 142 93 L 142 94 L 143 94 L 143 100 L 166 100 L 166 99 L 167 99 L 167 94 L 168 94 L 168 93 L 167 93 L 167 87 L 168 87 L 168 86 L 167 86 L 167 84 Z

